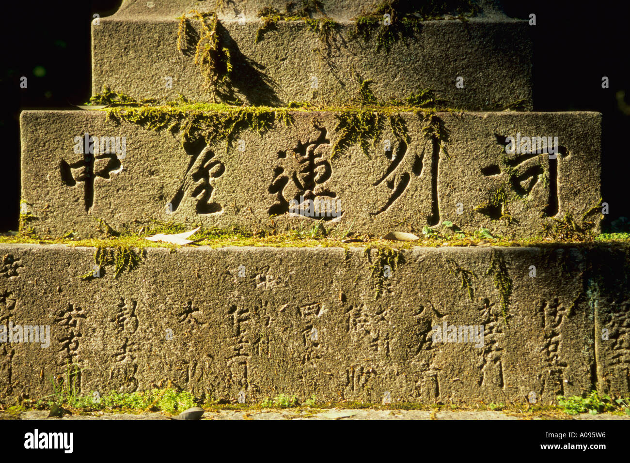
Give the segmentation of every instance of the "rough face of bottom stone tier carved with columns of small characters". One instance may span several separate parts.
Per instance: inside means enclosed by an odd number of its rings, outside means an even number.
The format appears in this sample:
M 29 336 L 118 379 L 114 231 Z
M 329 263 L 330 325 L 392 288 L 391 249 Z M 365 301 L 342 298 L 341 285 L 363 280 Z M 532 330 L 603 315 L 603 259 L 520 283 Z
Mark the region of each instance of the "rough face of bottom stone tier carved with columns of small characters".
M 614 329 L 628 324 L 617 309 L 627 307 L 627 246 L 415 248 L 381 283 L 374 249 L 369 260 L 357 248 L 146 251 L 132 272 L 115 278 L 108 266 L 83 281 L 93 248 L 1 245 L 0 323 L 50 325 L 52 341 L 0 343 L 0 396 L 50 393 L 67 362 L 82 370 L 81 391 L 101 394 L 168 380 L 217 398 L 244 391 L 248 402 L 628 393 L 627 329 Z M 508 281 L 511 292 L 497 289 Z M 443 323 L 483 325 L 483 346 L 434 342 Z M 599 325 L 614 355 L 601 354 Z

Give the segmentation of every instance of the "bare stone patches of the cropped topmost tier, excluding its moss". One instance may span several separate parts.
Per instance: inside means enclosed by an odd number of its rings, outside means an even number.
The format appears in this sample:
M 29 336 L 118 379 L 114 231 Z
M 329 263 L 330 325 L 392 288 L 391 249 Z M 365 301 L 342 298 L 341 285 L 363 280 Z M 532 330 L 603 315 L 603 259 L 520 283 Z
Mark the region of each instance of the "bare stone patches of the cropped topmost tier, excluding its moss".
M 150 16 L 154 18 L 168 18 L 180 16 L 191 9 L 211 12 L 217 11 L 219 18 L 231 20 L 243 14 L 246 18 L 257 18 L 258 12 L 268 6 L 278 9 L 280 13 L 286 13 L 287 0 L 123 0 L 122 5 L 115 16 L 137 19 L 138 16 Z M 301 0 L 294 1 L 297 8 L 304 4 Z M 314 17 L 321 17 L 324 13 L 329 18 L 336 20 L 350 20 L 363 11 L 372 11 L 374 6 L 381 3 L 379 0 L 319 0 L 323 6 L 323 12 L 315 12 Z M 481 0 L 477 2 L 481 8 L 479 16 L 504 16 L 496 1 Z

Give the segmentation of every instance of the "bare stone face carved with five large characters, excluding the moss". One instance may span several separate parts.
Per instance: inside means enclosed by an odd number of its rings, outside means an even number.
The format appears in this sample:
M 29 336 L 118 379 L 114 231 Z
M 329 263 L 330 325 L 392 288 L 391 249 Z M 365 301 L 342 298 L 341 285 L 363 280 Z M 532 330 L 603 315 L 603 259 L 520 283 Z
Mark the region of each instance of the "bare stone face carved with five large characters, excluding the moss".
M 24 111 L 22 197 L 37 217 L 28 225 L 40 236 L 74 230 L 82 237 L 95 234 L 101 218 L 114 228 L 173 220 L 283 230 L 319 220 L 287 214 L 290 200 L 312 193 L 340 201 L 343 214 L 326 217 L 327 226 L 357 232 L 419 235 L 427 224 L 450 220 L 469 232 L 487 227 L 522 236 L 541 232 L 550 217 L 570 214 L 579 223 L 589 211 L 586 219 L 599 229 L 599 113 L 438 113 L 449 132 L 448 154 L 423 135 L 420 116 L 404 113 L 408 143 L 396 141 L 384 117 L 370 157 L 354 145 L 331 161 L 340 137 L 335 113 L 292 115 L 289 127 L 276 122 L 262 137 L 246 130 L 238 135 L 244 145 L 234 140 L 226 149 L 222 142 L 201 155 L 203 145 L 186 152 L 173 135 L 117 125 L 102 111 Z M 84 161 L 73 147 L 85 132 L 126 137 L 125 159 L 98 154 L 93 166 Z M 517 132 L 558 136 L 558 159 L 505 154 L 500 137 Z M 501 188 L 509 202 L 488 206 Z

